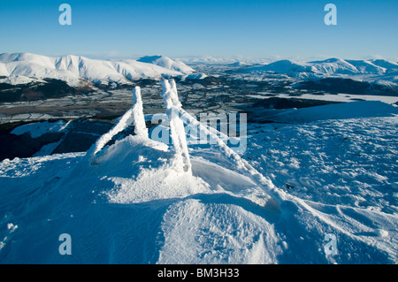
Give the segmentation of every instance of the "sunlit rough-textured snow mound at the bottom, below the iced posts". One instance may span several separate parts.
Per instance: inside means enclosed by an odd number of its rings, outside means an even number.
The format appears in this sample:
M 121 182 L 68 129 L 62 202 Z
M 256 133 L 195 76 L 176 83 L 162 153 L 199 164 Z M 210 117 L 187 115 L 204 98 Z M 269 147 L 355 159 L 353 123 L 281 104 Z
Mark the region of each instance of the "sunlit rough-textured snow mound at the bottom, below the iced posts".
M 163 222 L 158 263 L 274 263 L 281 252 L 272 225 L 237 205 L 189 199 Z

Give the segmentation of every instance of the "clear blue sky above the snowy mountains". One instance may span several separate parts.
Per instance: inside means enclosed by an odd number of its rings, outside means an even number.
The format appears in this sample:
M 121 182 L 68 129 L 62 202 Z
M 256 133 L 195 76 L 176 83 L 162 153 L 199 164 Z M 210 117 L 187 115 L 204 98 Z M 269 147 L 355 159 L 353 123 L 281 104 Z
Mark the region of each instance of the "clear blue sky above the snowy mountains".
M 398 60 L 398 1 L 4 1 L 0 53 Z M 72 7 L 61 26 L 60 4 Z M 325 4 L 337 6 L 326 26 Z

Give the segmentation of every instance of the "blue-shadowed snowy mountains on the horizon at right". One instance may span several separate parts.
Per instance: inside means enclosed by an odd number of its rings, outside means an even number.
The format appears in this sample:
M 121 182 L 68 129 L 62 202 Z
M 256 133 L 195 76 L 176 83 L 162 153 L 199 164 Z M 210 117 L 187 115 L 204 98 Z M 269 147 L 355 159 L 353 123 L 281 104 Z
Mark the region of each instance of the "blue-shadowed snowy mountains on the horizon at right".
M 294 62 L 279 60 L 268 65 L 243 67 L 239 72 L 277 72 L 290 76 L 303 74 L 384 74 L 398 72 L 398 65 L 386 60 L 343 60 L 329 58 L 323 61 Z

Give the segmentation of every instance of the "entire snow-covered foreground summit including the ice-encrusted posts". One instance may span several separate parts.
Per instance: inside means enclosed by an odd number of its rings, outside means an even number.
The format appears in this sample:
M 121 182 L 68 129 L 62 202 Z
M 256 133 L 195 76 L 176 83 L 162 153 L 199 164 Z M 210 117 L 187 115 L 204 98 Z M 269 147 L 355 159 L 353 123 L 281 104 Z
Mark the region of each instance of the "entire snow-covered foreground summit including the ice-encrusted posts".
M 148 132 L 134 88 L 133 107 L 87 152 L 0 163 L 1 263 L 398 263 L 396 107 L 249 124 L 238 155 L 161 83 L 167 126 Z M 195 132 L 211 145 L 186 138 Z M 63 233 L 72 255 L 58 252 Z

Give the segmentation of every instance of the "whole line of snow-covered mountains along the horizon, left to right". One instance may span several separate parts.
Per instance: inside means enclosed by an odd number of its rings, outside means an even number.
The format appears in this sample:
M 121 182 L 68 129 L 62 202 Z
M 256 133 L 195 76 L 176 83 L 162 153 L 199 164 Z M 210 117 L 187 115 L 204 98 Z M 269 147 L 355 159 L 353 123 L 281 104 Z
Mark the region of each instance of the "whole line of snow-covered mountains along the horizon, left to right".
M 185 62 L 188 64 L 193 62 L 195 65 L 196 61 L 191 58 Z M 218 64 L 223 62 L 218 62 Z M 214 64 L 214 62 L 209 61 L 207 64 Z M 398 83 L 398 64 L 384 59 L 329 58 L 311 62 L 284 59 L 269 64 L 237 61 L 229 66 L 233 67 L 233 71 L 237 73 L 276 72 L 300 79 L 365 75 L 381 76 L 383 80 Z M 42 79 L 64 80 L 69 86 L 77 87 L 84 85 L 85 82 L 108 85 L 112 82 L 130 84 L 131 80 L 140 79 L 183 78 L 189 74 L 194 75 L 193 78 L 196 79 L 205 77 L 203 73 L 198 76 L 198 73 L 195 75 L 192 74 L 193 72 L 195 70 L 182 61 L 164 56 L 146 56 L 136 60 L 100 60 L 73 55 L 46 57 L 31 53 L 0 54 L 0 82 L 11 85 L 26 84 Z

